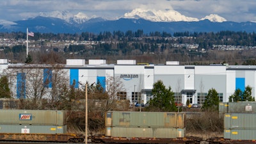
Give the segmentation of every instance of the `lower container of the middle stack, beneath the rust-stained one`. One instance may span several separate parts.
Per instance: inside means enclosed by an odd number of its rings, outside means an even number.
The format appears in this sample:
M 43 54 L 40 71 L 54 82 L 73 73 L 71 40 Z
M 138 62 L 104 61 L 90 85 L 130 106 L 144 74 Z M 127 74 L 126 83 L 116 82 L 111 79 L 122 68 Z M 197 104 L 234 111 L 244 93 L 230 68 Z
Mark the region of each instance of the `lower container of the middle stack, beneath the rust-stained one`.
M 106 136 L 125 138 L 184 138 L 185 128 L 106 127 Z

